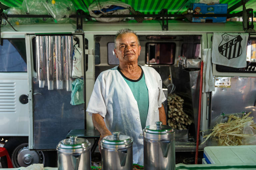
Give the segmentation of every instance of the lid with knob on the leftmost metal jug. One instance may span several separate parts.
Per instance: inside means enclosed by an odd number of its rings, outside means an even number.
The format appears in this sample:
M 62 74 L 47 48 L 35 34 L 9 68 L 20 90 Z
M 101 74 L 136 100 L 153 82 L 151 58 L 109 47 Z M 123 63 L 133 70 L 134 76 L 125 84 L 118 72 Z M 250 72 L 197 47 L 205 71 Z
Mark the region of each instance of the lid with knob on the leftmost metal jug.
M 57 150 L 63 149 L 89 149 L 91 147 L 91 143 L 85 139 L 77 136 L 70 136 L 67 139 L 61 140 L 57 145 Z

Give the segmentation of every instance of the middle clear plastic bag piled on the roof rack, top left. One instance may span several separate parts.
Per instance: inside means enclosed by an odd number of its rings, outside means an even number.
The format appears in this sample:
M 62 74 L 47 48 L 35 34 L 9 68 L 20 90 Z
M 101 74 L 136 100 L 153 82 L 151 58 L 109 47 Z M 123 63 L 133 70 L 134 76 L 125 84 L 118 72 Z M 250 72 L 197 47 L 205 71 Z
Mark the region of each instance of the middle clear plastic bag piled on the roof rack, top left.
M 48 14 L 41 0 L 23 0 L 22 9 L 26 14 L 44 15 Z

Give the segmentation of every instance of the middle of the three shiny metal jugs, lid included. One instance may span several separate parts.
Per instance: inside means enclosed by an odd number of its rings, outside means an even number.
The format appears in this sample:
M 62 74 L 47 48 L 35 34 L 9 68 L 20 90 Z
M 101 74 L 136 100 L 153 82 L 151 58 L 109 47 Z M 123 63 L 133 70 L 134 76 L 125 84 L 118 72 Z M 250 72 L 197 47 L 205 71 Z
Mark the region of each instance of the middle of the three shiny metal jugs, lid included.
M 132 170 L 131 137 L 113 132 L 101 140 L 102 170 Z

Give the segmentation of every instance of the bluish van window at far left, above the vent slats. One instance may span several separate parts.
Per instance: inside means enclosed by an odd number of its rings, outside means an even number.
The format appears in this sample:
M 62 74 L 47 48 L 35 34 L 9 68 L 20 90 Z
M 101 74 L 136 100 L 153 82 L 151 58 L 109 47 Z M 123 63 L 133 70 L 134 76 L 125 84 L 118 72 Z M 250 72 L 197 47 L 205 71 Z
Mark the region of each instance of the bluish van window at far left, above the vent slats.
M 0 45 L 0 72 L 27 72 L 25 39 L 4 39 Z

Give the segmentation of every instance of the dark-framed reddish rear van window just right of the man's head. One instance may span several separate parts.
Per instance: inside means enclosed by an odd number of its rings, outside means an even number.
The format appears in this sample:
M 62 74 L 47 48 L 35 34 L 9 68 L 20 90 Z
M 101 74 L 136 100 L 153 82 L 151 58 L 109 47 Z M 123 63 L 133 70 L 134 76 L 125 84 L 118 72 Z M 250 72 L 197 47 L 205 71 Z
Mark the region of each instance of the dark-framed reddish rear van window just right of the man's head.
M 156 42 L 146 44 L 147 64 L 173 64 L 176 44 L 174 42 Z

